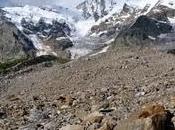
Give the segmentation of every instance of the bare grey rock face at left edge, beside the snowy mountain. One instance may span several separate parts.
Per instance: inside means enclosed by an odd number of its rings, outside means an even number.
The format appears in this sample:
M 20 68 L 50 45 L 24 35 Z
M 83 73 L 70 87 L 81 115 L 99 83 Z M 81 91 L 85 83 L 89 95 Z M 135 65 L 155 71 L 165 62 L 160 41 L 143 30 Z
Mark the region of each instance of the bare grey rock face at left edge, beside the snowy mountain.
M 8 22 L 2 15 L 0 18 L 0 62 L 26 58 L 35 55 L 36 48 L 32 41 Z

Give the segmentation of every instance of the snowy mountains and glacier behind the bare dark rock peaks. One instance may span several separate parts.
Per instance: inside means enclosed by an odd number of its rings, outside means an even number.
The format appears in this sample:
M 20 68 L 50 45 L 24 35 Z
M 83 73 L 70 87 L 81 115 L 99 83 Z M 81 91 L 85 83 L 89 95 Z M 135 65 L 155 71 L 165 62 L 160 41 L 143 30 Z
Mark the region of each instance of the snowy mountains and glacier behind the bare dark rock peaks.
M 157 23 L 174 26 L 174 3 L 174 0 L 85 0 L 76 6 L 77 10 L 57 5 L 5 7 L 3 10 L 5 17 L 33 42 L 38 50 L 37 56 L 59 55 L 58 50 L 72 46 L 69 50 L 73 55 L 83 56 L 92 52 L 96 44 L 92 44 L 94 40 L 90 41 L 91 38 L 84 37 L 90 35 L 111 40 L 125 28 L 132 27 L 142 15 L 148 17 L 148 22 L 149 19 L 157 20 L 151 22 L 151 26 L 158 30 L 156 34 L 161 33 Z M 151 35 L 147 37 L 156 39 Z

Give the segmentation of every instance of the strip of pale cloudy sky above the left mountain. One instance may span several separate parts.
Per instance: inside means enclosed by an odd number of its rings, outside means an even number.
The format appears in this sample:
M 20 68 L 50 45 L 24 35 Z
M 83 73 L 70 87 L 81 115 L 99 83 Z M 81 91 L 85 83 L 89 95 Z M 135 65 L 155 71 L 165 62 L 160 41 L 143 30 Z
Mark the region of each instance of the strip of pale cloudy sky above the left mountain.
M 64 7 L 74 8 L 83 0 L 0 0 L 0 7 L 11 6 L 15 4 L 28 5 L 61 5 Z

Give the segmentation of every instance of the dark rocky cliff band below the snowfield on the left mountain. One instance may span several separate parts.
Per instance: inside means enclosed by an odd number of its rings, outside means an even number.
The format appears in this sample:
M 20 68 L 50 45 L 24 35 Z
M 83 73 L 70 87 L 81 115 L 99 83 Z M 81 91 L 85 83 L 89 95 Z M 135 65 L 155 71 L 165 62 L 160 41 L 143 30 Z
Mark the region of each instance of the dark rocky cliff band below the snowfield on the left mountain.
M 26 35 L 37 35 L 44 45 L 49 46 L 57 54 L 73 46 L 68 38 L 71 35 L 71 29 L 65 22 L 60 23 L 54 20 L 52 24 L 49 24 L 41 18 L 37 24 L 25 19 L 22 19 L 21 24 Z M 57 38 L 61 40 L 56 40 Z

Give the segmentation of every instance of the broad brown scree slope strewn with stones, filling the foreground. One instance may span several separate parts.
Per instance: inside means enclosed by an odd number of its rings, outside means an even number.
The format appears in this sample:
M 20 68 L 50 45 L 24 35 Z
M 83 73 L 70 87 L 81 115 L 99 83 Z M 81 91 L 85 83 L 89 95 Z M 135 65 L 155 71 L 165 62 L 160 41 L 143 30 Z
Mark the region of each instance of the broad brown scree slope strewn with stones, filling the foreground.
M 118 48 L 2 76 L 1 127 L 54 130 L 77 124 L 94 130 L 110 120 L 111 128 L 105 130 L 113 130 L 132 119 L 130 113 L 155 102 L 173 113 L 174 59 L 153 48 Z

